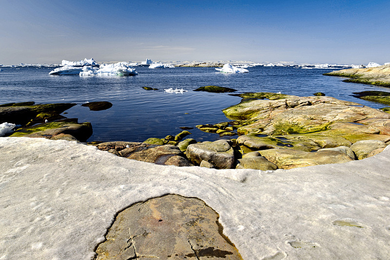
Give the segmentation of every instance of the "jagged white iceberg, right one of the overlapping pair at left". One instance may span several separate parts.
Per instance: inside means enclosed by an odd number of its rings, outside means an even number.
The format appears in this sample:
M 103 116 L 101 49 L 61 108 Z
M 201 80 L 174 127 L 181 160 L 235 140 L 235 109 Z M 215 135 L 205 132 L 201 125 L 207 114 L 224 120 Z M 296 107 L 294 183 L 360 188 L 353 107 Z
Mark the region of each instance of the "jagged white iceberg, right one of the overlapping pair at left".
M 92 66 L 84 66 L 79 73 L 80 76 L 133 76 L 137 74 L 136 69 L 131 68 L 127 62 L 102 64 L 98 69 Z

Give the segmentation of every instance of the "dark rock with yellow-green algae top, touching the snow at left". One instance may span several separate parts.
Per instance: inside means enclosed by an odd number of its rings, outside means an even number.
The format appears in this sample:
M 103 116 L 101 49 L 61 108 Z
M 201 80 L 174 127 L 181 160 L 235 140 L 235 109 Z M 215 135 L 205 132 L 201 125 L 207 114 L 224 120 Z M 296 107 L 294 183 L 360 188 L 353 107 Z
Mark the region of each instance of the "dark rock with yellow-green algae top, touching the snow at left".
M 65 139 L 86 142 L 91 135 L 91 123 L 86 122 L 79 124 L 77 123 L 77 119 L 68 118 L 32 127 L 20 128 L 17 129 L 11 136 L 44 137 L 47 139 Z

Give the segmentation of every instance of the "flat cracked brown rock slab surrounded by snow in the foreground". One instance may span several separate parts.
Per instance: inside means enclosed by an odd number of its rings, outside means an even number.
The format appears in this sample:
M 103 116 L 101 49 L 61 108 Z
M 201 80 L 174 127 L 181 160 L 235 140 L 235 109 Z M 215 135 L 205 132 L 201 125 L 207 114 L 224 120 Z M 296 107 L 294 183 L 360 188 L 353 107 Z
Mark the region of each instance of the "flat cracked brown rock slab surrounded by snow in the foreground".
M 166 195 L 119 212 L 97 260 L 242 260 L 223 235 L 219 215 L 203 201 Z

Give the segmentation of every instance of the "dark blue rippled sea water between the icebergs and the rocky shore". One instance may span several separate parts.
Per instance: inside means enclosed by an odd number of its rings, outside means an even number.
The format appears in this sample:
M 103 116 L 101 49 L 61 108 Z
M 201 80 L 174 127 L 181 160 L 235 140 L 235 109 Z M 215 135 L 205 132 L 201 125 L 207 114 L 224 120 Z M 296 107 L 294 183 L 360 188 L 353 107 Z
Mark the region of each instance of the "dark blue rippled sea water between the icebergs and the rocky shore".
M 136 67 L 139 73 L 129 77 L 80 77 L 49 75 L 53 68 L 2 68 L 0 72 L 0 104 L 35 101 L 39 103 L 77 103 L 69 109 L 68 118 L 91 122 L 93 135 L 88 141 L 142 142 L 149 137 L 176 135 L 179 127 L 195 127 L 229 121 L 222 109 L 240 102 L 228 93 L 205 93 L 193 90 L 217 85 L 244 92 L 281 92 L 308 96 L 323 92 L 328 96 L 349 100 L 373 108 L 383 104 L 351 96 L 366 90 L 389 91 L 388 88 L 342 82 L 344 78 L 324 76 L 333 69 L 298 69 L 292 67 L 252 67 L 245 74 L 222 74 L 214 68 L 149 69 Z M 146 91 L 152 87 L 158 91 Z M 188 92 L 165 93 L 178 88 Z M 113 107 L 105 111 L 89 111 L 80 105 L 92 101 L 109 101 Z M 2 123 L 2 122 L 0 122 Z M 12 122 L 9 122 L 12 123 Z M 188 138 L 197 141 L 219 139 L 215 133 L 190 130 Z

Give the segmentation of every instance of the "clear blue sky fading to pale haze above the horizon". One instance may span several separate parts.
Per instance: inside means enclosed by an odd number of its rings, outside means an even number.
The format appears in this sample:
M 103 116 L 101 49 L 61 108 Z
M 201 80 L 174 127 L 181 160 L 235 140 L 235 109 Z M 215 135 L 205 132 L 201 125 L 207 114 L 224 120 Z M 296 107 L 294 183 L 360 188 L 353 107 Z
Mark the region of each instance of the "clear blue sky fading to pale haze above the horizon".
M 389 0 L 0 0 L 0 64 L 390 62 Z

